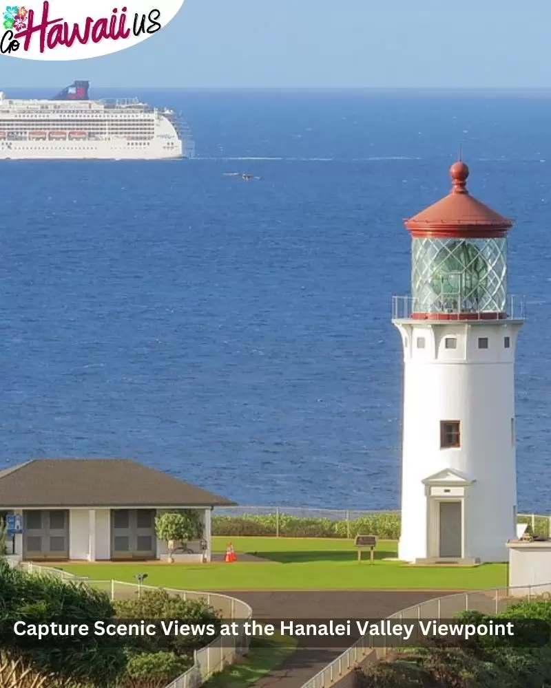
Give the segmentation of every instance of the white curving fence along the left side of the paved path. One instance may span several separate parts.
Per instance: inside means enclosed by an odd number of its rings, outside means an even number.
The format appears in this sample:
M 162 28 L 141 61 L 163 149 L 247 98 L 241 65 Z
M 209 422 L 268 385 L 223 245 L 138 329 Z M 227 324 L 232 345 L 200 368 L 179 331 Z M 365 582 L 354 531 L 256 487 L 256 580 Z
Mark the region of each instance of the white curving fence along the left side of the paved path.
M 55 576 L 65 581 L 82 581 L 86 585 L 107 592 L 110 599 L 132 599 L 140 595 L 143 590 L 158 590 L 152 585 L 139 583 L 125 583 L 124 581 L 90 581 L 79 578 L 57 568 L 39 566 L 31 562 L 21 563 L 21 568 L 29 573 L 38 573 Z M 202 599 L 222 614 L 222 619 L 231 621 L 247 621 L 252 619 L 253 610 L 249 605 L 236 597 L 222 595 L 216 592 L 197 592 L 196 590 L 174 590 L 163 588 L 174 596 L 180 596 L 184 600 Z M 175 678 L 166 688 L 198 688 L 205 683 L 217 671 L 233 664 L 238 658 L 247 654 L 251 638 L 242 634 L 232 638 L 218 636 L 216 640 L 201 649 L 194 651 L 194 665 L 184 674 Z

